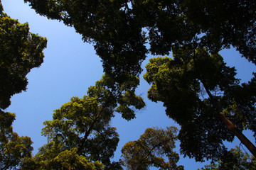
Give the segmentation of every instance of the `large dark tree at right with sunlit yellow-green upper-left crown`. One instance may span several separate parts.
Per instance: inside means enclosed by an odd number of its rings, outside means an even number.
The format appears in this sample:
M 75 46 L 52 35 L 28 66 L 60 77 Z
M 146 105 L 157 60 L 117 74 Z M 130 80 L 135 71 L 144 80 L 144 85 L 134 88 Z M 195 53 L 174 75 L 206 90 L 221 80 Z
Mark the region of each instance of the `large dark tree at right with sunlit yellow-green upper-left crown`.
M 255 86 L 247 93 L 247 84 L 239 85 L 235 68 L 218 53 L 183 47 L 173 57 L 149 60 L 144 79 L 151 84 L 149 99 L 164 102 L 166 114 L 181 125 L 181 153 L 196 161 L 218 159 L 225 152 L 223 141 L 233 141 L 234 135 L 246 145 L 239 135 L 245 129 L 255 132 L 250 126 L 256 119 Z

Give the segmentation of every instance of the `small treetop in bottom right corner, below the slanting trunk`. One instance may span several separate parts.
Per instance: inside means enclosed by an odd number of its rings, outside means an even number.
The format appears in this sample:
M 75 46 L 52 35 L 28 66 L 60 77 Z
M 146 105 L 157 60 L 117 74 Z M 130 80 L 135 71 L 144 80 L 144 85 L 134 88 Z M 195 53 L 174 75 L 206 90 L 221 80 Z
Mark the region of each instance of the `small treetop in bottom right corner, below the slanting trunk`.
M 250 157 L 249 154 L 241 152 L 240 148 L 236 147 L 220 157 L 217 164 L 209 164 L 202 168 L 202 170 L 210 169 L 252 170 L 256 169 L 256 160 L 255 157 Z

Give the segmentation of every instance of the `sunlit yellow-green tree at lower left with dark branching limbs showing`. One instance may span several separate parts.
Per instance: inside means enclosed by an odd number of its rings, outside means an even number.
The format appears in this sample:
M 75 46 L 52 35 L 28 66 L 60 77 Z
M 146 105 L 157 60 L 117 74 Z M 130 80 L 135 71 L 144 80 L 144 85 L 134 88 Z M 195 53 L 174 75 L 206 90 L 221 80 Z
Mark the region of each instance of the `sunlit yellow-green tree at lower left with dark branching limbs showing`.
M 46 127 L 42 134 L 48 138 L 48 144 L 41 147 L 34 159 L 46 169 L 90 169 L 100 162 L 110 164 L 119 142 L 115 128 L 109 125 L 111 117 L 112 113 L 99 106 L 94 97 L 71 98 L 55 110 L 53 120 L 43 123 Z

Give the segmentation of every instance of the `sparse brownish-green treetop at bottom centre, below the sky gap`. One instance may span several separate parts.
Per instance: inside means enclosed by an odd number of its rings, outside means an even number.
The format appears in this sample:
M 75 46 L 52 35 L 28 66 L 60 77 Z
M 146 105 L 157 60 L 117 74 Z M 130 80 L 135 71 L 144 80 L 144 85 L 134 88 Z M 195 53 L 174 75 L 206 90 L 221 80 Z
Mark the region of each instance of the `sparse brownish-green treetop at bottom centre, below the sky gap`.
M 147 128 L 139 140 L 127 142 L 122 147 L 122 157 L 127 169 L 149 169 L 155 166 L 160 169 L 183 169 L 177 166 L 178 154 L 174 152 L 177 140 L 176 127 L 167 130 Z M 169 162 L 165 162 L 167 157 Z

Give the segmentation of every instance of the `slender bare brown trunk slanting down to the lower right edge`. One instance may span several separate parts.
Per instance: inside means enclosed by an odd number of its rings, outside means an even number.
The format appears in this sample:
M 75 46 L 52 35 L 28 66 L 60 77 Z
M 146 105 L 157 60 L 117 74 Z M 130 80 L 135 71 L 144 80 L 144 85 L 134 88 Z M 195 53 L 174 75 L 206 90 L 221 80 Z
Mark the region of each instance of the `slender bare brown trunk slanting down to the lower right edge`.
M 203 83 L 203 86 L 206 89 L 206 93 L 210 97 L 210 101 L 212 101 L 214 106 L 216 108 L 218 108 L 219 118 L 221 120 L 223 120 L 223 123 L 225 123 L 228 130 L 233 132 L 235 134 L 235 136 L 238 137 L 240 142 L 242 142 L 242 144 L 245 145 L 245 147 L 247 147 L 247 149 L 253 154 L 253 156 L 256 157 L 256 147 L 255 147 L 255 145 L 253 145 L 252 142 L 250 142 L 250 140 L 248 140 L 248 138 L 245 137 L 245 135 L 243 135 L 242 132 L 240 132 L 240 130 L 238 130 L 238 128 L 222 113 L 222 111 L 220 110 L 220 107 L 218 105 L 218 102 L 216 102 L 215 98 L 213 98 L 213 95 L 210 93 L 210 91 L 207 88 L 205 82 L 204 81 L 201 81 L 201 82 Z

